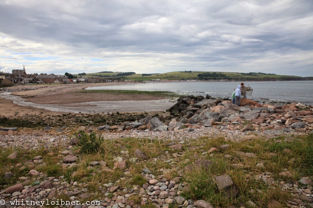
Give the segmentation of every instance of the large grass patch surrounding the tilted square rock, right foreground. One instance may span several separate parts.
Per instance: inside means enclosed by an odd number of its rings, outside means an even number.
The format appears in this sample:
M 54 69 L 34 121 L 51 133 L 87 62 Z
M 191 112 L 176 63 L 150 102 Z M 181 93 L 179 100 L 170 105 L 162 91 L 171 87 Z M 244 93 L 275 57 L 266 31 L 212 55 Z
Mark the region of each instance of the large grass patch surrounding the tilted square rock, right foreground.
M 200 140 L 200 139 L 199 139 Z M 185 155 L 193 155 L 199 149 L 208 150 L 216 147 L 218 152 L 213 155 L 201 156 L 213 162 L 209 170 L 196 169 L 192 172 L 184 172 L 184 181 L 190 191 L 183 191 L 182 196 L 186 199 L 209 201 L 214 207 L 231 207 L 232 205 L 243 206 L 247 201 L 253 201 L 257 206 L 265 207 L 272 200 L 278 201 L 281 207 L 291 200 L 290 192 L 284 191 L 281 181 L 292 183 L 302 176 L 313 174 L 313 136 L 280 136 L 271 139 L 254 139 L 252 141 L 225 141 L 223 137 L 202 137 L 201 141 L 192 141 Z M 219 146 L 228 144 L 226 149 Z M 248 156 L 245 153 L 254 153 Z M 201 154 L 198 152 L 198 154 Z M 225 158 L 224 155 L 230 155 Z M 186 157 L 184 157 L 186 158 Z M 187 164 L 198 158 L 190 158 Z M 264 166 L 256 166 L 262 163 Z M 186 165 L 187 165 L 186 164 Z M 242 167 L 233 166 L 242 165 Z M 269 171 L 274 178 L 275 184 L 268 186 L 264 181 L 257 181 L 254 176 Z M 282 171 L 289 171 L 288 176 L 279 175 Z M 238 191 L 236 198 L 225 198 L 217 189 L 214 178 L 219 175 L 229 175 Z M 278 181 L 278 182 L 277 182 Z

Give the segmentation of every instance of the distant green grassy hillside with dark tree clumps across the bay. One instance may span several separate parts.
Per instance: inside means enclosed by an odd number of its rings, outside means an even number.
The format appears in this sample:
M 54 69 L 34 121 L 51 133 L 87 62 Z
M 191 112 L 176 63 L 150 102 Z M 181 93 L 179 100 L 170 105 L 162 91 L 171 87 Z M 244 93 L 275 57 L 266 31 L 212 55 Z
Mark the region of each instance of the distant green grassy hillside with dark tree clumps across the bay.
M 199 74 L 207 73 L 212 76 L 202 76 Z M 130 76 L 117 77 L 118 73 L 89 73 L 86 77 L 100 76 L 121 78 L 122 80 L 133 81 L 149 81 L 153 79 L 160 80 L 229 80 L 229 81 L 284 81 L 284 80 L 312 80 L 312 77 L 299 77 L 288 75 L 276 75 L 265 73 L 236 73 L 236 72 L 199 72 L 199 71 L 184 71 L 184 72 L 167 72 L 160 74 L 151 74 L 142 76 L 142 74 L 132 74 Z

